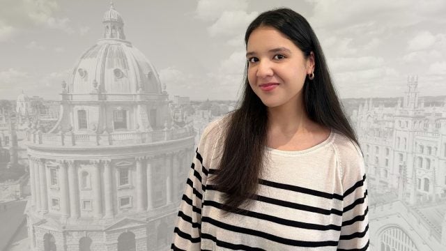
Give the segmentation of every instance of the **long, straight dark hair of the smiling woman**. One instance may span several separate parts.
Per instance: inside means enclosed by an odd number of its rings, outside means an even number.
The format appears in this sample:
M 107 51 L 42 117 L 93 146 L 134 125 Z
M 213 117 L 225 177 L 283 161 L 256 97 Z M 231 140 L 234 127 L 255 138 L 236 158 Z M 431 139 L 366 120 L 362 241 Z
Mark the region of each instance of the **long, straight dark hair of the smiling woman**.
M 321 45 L 305 17 L 288 8 L 261 13 L 249 24 L 245 45 L 252 31 L 261 26 L 271 26 L 288 36 L 306 58 L 314 53 L 314 79 L 307 76 L 303 87 L 305 112 L 312 121 L 336 130 L 357 144 L 355 132 L 334 90 Z M 224 192 L 226 213 L 240 211 L 239 207 L 246 208 L 255 199 L 265 159 L 268 110 L 249 86 L 247 66 L 240 101 L 238 108 L 229 114 L 220 165 L 215 175 L 210 176 L 217 190 Z

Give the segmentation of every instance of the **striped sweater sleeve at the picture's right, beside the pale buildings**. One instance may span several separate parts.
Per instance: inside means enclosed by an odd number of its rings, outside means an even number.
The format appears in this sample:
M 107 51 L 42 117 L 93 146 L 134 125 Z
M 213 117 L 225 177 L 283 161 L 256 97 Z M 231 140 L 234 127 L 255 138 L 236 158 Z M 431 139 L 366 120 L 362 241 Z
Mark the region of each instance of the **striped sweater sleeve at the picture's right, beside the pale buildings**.
M 355 145 L 343 153 L 343 213 L 337 250 L 369 250 L 367 180 L 364 159 Z

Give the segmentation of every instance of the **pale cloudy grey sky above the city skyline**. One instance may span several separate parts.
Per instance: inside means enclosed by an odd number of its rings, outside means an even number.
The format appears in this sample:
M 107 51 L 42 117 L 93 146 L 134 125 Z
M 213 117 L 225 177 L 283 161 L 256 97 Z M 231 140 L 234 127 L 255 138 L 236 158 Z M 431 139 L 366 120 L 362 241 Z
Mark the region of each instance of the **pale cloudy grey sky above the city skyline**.
M 341 98 L 446 95 L 446 1 L 114 0 L 127 40 L 155 66 L 169 98 L 236 100 L 243 36 L 259 13 L 291 8 L 307 18 Z M 0 99 L 60 100 L 61 82 L 102 38 L 110 1 L 0 0 Z

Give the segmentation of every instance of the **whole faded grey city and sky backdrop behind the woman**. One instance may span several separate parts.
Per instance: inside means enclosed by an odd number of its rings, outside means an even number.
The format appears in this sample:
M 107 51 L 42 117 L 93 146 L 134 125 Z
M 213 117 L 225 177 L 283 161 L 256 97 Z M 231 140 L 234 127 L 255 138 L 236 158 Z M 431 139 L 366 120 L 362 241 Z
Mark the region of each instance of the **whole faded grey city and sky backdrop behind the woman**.
M 367 168 L 370 250 L 446 250 L 445 1 L 0 0 L 0 250 L 169 250 L 249 22 L 312 24 Z

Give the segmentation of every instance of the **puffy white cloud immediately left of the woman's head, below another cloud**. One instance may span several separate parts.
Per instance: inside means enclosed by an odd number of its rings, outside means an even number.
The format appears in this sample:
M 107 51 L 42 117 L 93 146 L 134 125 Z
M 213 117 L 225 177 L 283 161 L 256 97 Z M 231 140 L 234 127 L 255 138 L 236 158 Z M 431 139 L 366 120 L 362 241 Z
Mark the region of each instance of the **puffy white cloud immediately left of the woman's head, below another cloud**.
M 210 36 L 236 36 L 245 33 L 249 22 L 252 22 L 259 13 L 246 13 L 243 10 L 224 11 L 220 18 L 208 27 Z

